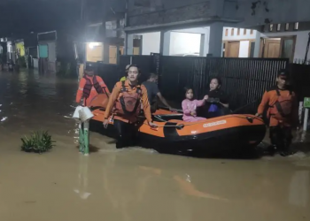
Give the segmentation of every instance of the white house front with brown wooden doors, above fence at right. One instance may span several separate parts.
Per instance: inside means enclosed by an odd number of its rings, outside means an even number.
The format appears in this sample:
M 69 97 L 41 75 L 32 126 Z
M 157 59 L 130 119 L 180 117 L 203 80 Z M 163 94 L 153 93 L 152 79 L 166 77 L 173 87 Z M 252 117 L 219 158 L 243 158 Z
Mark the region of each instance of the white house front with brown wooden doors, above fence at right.
M 293 63 L 304 62 L 310 22 L 267 24 L 253 28 L 257 30 L 224 27 L 222 56 L 290 58 Z M 256 51 L 255 46 L 258 46 Z M 308 52 L 307 55 L 310 56 Z

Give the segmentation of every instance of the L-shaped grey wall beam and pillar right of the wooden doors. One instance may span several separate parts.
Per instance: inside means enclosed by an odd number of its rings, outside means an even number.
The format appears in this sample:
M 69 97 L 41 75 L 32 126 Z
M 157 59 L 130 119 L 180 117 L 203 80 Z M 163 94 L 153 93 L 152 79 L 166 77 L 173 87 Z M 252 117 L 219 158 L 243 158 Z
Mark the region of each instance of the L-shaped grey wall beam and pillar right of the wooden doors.
M 266 33 L 260 34 L 261 37 L 284 37 L 284 36 L 296 36 L 295 53 L 294 60 L 304 59 L 306 54 L 306 43 L 309 38 L 309 31 L 300 32 L 282 32 L 282 33 Z M 310 58 L 310 53 L 308 52 L 308 58 Z

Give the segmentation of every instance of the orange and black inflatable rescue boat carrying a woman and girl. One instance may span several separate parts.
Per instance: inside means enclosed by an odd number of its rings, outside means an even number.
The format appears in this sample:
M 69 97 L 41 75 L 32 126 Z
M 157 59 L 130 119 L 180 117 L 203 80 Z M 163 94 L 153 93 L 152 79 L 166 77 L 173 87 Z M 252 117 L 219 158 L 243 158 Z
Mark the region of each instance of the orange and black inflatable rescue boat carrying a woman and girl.
M 97 125 L 99 131 L 104 130 L 102 123 L 107 102 L 108 95 L 100 94 L 90 103 L 90 110 L 94 114 L 90 129 Z M 182 113 L 159 109 L 153 113 L 152 118 L 158 128 L 151 128 L 143 116 L 140 118 L 139 146 L 143 148 L 247 149 L 257 146 L 266 133 L 263 120 L 247 114 L 185 122 L 182 121 Z M 110 124 L 112 125 L 112 122 Z

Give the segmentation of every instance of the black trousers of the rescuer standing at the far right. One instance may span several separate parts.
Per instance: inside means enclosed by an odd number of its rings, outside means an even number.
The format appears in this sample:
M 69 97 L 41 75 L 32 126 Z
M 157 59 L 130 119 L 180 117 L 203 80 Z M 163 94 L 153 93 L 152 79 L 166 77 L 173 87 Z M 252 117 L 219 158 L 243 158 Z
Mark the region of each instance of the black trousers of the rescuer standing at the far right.
M 270 126 L 270 141 L 280 151 L 288 151 L 291 146 L 291 126 Z

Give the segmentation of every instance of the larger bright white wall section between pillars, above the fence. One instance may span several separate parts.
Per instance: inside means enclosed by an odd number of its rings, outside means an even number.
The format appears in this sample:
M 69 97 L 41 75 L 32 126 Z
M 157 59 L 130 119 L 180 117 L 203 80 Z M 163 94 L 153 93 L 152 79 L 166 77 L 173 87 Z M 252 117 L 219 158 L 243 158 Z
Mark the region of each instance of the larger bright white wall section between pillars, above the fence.
M 200 53 L 201 34 L 171 32 L 169 55 Z

